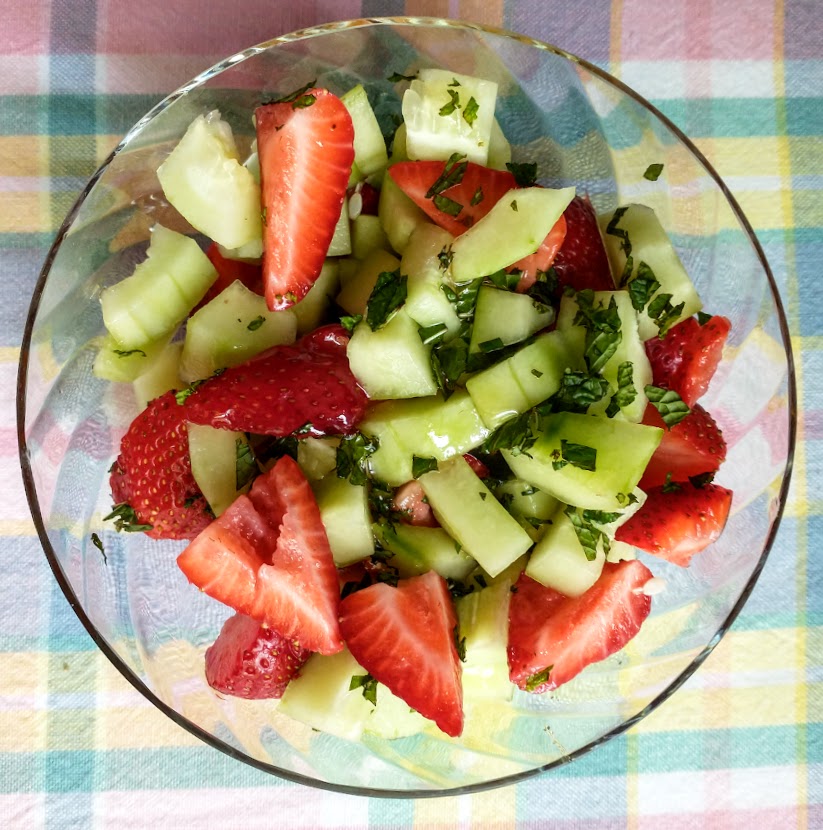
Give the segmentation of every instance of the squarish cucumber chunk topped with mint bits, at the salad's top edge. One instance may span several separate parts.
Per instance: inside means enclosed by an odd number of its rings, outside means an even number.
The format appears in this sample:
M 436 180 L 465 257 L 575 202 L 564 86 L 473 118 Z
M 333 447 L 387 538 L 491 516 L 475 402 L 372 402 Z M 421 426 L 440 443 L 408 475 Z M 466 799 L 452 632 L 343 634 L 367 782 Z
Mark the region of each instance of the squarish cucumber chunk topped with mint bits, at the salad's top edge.
M 409 158 L 446 160 L 460 153 L 486 164 L 496 100 L 493 81 L 421 69 L 403 95 Z

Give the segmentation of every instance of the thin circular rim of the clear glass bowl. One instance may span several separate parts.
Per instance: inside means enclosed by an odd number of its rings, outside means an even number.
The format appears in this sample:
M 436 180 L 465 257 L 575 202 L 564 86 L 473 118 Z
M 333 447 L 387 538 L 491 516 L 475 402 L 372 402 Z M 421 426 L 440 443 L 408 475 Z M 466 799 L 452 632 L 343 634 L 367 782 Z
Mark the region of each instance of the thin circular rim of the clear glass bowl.
M 322 781 L 319 779 L 312 778 L 309 775 L 281 769 L 280 767 L 277 767 L 274 764 L 270 764 L 265 761 L 260 761 L 258 759 L 252 758 L 251 756 L 238 750 L 230 744 L 225 743 L 224 741 L 215 737 L 212 733 L 194 724 L 184 715 L 180 714 L 167 703 L 165 703 L 163 700 L 161 700 L 157 696 L 157 694 L 153 692 L 151 689 L 149 689 L 145 685 L 143 680 L 141 680 L 141 678 L 128 665 L 126 665 L 126 663 L 113 650 L 113 648 L 109 646 L 108 642 L 97 631 L 96 627 L 91 622 L 91 619 L 83 609 L 83 606 L 81 605 L 77 595 L 71 587 L 68 578 L 64 574 L 60 562 L 57 558 L 57 555 L 49 541 L 43 516 L 40 511 L 40 503 L 37 496 L 34 475 L 29 462 L 29 454 L 26 443 L 26 391 L 28 388 L 28 371 L 31 356 L 31 337 L 34 328 L 34 322 L 37 316 L 38 309 L 40 307 L 40 301 L 43 296 L 48 275 L 51 271 L 51 267 L 54 263 L 57 252 L 60 249 L 60 246 L 62 245 L 69 229 L 71 228 L 80 207 L 83 205 L 92 188 L 96 185 L 97 181 L 100 179 L 100 177 L 112 163 L 114 158 L 143 130 L 143 128 L 150 121 L 152 121 L 161 112 L 163 112 L 165 109 L 171 106 L 175 101 L 186 95 L 192 89 L 202 86 L 206 81 L 215 77 L 216 75 L 219 75 L 220 73 L 222 73 L 226 69 L 229 69 L 235 64 L 242 63 L 248 60 L 249 58 L 254 57 L 255 55 L 258 55 L 281 44 L 290 43 L 294 41 L 308 40 L 311 38 L 322 36 L 324 34 L 339 32 L 347 29 L 368 29 L 377 26 L 409 26 L 419 27 L 421 29 L 452 28 L 459 30 L 473 30 L 476 32 L 480 32 L 481 34 L 487 34 L 494 37 L 514 40 L 526 46 L 530 46 L 533 48 L 537 48 L 541 51 L 546 51 L 558 55 L 559 57 L 565 58 L 571 63 L 579 65 L 587 72 L 598 77 L 600 80 L 620 90 L 622 93 L 633 99 L 643 108 L 645 108 L 648 112 L 650 112 L 653 116 L 655 116 L 655 118 L 657 118 L 659 122 L 661 122 L 663 126 L 665 126 L 690 151 L 693 158 L 703 167 L 706 173 L 714 180 L 720 192 L 725 197 L 736 220 L 739 222 L 741 228 L 748 236 L 749 242 L 755 251 L 755 254 L 760 262 L 761 267 L 763 268 L 763 271 L 766 275 L 769 284 L 772 301 L 774 302 L 775 310 L 777 312 L 778 324 L 780 334 L 783 340 L 783 347 L 785 350 L 787 363 L 787 397 L 789 414 L 789 429 L 787 436 L 788 446 L 786 464 L 783 472 L 783 479 L 781 482 L 779 492 L 777 494 L 777 509 L 774 511 L 774 516 L 771 522 L 769 533 L 766 537 L 766 542 L 763 546 L 763 550 L 760 554 L 760 557 L 757 563 L 755 564 L 754 568 L 752 569 L 752 573 L 749 579 L 747 580 L 746 584 L 744 585 L 743 590 L 740 593 L 740 596 L 732 606 L 731 610 L 728 612 L 725 620 L 723 621 L 720 628 L 715 632 L 714 636 L 692 659 L 689 665 L 686 666 L 686 668 L 683 669 L 681 673 L 677 677 L 675 677 L 674 680 L 672 680 L 662 692 L 660 692 L 660 694 L 658 694 L 639 712 L 635 713 L 630 718 L 627 718 L 613 729 L 601 735 L 599 738 L 590 741 L 588 744 L 585 744 L 579 749 L 570 752 L 562 758 L 558 758 L 548 764 L 543 764 L 534 767 L 530 770 L 521 771 L 511 775 L 505 775 L 488 781 L 443 789 L 421 788 L 411 790 L 388 790 L 372 787 L 359 787 L 354 785 L 336 784 L 327 781 Z M 655 107 L 653 104 L 647 101 L 643 96 L 635 92 L 631 87 L 627 86 L 625 83 L 620 81 L 618 78 L 615 78 L 610 73 L 599 68 L 595 64 L 590 63 L 584 58 L 580 58 L 577 55 L 572 54 L 571 52 L 567 52 L 564 49 L 561 49 L 545 41 L 537 40 L 527 35 L 512 32 L 503 28 L 487 26 L 484 24 L 472 23 L 468 21 L 451 20 L 442 17 L 362 17 L 352 20 L 329 22 L 289 32 L 278 37 L 272 38 L 270 40 L 263 41 L 262 43 L 251 46 L 247 49 L 236 52 L 235 54 L 224 58 L 223 60 L 209 67 L 208 69 L 205 69 L 203 72 L 200 72 L 190 81 L 178 87 L 176 90 L 174 90 L 161 101 L 159 101 L 154 107 L 152 107 L 139 121 L 137 121 L 134 124 L 134 126 L 132 126 L 128 130 L 128 132 L 126 132 L 123 138 L 117 143 L 117 146 L 111 151 L 111 153 L 109 153 L 107 158 L 95 171 L 95 173 L 92 175 L 85 187 L 80 192 L 79 196 L 77 197 L 72 208 L 66 215 L 66 218 L 61 223 L 60 228 L 58 229 L 55 235 L 54 241 L 52 242 L 49 248 L 43 267 L 40 270 L 40 274 L 35 284 L 34 291 L 32 293 L 32 299 L 26 318 L 26 324 L 23 332 L 23 340 L 20 349 L 16 394 L 17 441 L 20 457 L 20 466 L 23 473 L 23 485 L 26 493 L 26 499 L 32 514 L 32 519 L 35 529 L 37 531 L 37 535 L 39 537 L 40 543 L 43 547 L 51 570 L 54 574 L 54 577 L 58 585 L 60 586 L 60 589 L 62 590 L 69 606 L 77 615 L 78 619 L 88 632 L 89 636 L 95 642 L 97 647 L 109 659 L 109 661 L 120 672 L 120 674 L 148 701 L 150 701 L 154 706 L 156 706 L 158 710 L 160 710 L 163 714 L 168 716 L 178 726 L 182 727 L 190 734 L 195 735 L 204 743 L 214 747 L 215 749 L 220 750 L 221 752 L 238 761 L 242 761 L 254 768 L 257 768 L 271 775 L 275 775 L 285 780 L 292 781 L 298 784 L 303 784 L 309 787 L 316 787 L 331 792 L 338 792 L 349 795 L 360 795 L 381 798 L 435 798 L 445 795 L 462 795 L 469 793 L 477 793 L 497 787 L 516 784 L 520 781 L 533 778 L 537 775 L 547 772 L 548 770 L 554 769 L 561 765 L 567 764 L 573 760 L 576 760 L 577 758 L 580 758 L 581 756 L 590 752 L 595 747 L 605 743 L 606 741 L 611 740 L 612 738 L 618 735 L 621 735 L 623 732 L 627 731 L 629 728 L 631 728 L 644 717 L 646 717 L 646 715 L 650 714 L 655 709 L 657 709 L 657 707 L 660 706 L 663 702 L 668 700 L 671 697 L 671 695 L 674 694 L 674 692 L 676 692 L 691 677 L 692 674 L 694 674 L 694 672 L 711 654 L 715 646 L 720 642 L 724 634 L 734 623 L 744 604 L 748 600 L 752 590 L 754 589 L 755 584 L 757 583 L 757 580 L 760 576 L 760 573 L 763 570 L 763 567 L 766 563 L 766 559 L 769 555 L 772 545 L 774 544 L 775 538 L 780 528 L 781 518 L 786 505 L 788 491 L 791 483 L 797 437 L 797 389 L 795 377 L 795 361 L 792 352 L 791 333 L 786 319 L 786 313 L 783 307 L 783 302 L 780 297 L 780 292 L 778 290 L 776 280 L 766 259 L 760 241 L 758 240 L 757 235 L 755 234 L 749 220 L 743 213 L 743 210 L 741 209 L 740 205 L 738 204 L 735 197 L 732 195 L 731 191 L 729 190 L 723 179 L 720 177 L 720 175 L 717 173 L 717 171 L 714 169 L 714 167 L 711 165 L 708 159 L 703 155 L 703 153 L 695 146 L 695 144 L 688 138 L 688 136 L 686 136 L 685 133 L 683 133 L 680 130 L 680 128 L 677 127 L 666 115 L 664 115 L 659 109 L 657 109 L 657 107 Z

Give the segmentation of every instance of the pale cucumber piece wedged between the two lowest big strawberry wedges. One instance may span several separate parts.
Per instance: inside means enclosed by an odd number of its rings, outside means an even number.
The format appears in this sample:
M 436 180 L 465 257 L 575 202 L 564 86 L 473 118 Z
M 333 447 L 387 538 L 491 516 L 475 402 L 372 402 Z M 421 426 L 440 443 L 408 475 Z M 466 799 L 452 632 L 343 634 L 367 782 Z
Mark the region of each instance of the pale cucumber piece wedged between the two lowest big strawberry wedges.
M 458 632 L 466 641 L 463 700 L 511 700 L 506 643 L 509 635 L 511 579 L 501 579 L 455 600 Z

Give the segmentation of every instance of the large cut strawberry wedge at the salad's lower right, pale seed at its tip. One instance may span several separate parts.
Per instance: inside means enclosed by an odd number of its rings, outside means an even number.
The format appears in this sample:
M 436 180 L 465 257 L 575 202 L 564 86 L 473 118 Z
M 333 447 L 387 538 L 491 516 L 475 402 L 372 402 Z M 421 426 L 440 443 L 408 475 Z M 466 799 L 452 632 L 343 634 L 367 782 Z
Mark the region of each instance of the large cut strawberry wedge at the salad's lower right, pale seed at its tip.
M 651 578 L 637 559 L 607 562 L 585 594 L 566 597 L 521 574 L 509 605 L 512 682 L 546 692 L 619 651 L 649 615 L 651 598 L 641 589 Z

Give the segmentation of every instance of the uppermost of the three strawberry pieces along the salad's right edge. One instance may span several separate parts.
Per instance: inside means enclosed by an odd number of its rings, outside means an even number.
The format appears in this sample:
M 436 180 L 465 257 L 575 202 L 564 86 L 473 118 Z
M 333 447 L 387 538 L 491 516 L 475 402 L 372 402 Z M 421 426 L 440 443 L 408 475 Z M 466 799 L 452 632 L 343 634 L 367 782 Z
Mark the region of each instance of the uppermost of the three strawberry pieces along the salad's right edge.
M 647 340 L 654 385 L 673 389 L 691 406 L 709 388 L 730 330 L 725 317 L 715 315 L 702 326 L 697 318 L 689 317 L 672 326 L 662 340 Z

